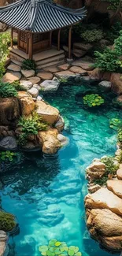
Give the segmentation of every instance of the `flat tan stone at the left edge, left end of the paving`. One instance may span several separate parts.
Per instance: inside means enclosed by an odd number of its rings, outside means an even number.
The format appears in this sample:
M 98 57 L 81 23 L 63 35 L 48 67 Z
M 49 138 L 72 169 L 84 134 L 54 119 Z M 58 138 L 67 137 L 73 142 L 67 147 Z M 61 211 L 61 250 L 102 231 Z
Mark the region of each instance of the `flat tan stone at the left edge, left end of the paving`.
M 14 81 L 20 80 L 21 74 L 20 72 L 6 72 L 6 74 L 2 77 L 3 83 L 13 83 Z

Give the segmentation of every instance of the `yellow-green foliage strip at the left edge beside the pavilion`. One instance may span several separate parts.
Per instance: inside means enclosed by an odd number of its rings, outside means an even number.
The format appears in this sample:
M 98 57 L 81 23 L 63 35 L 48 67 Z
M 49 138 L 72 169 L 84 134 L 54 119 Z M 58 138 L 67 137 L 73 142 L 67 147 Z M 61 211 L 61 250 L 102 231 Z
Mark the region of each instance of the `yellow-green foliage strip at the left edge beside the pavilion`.
M 9 50 L 8 50 L 9 41 L 10 41 L 9 32 L 0 34 L 0 78 L 2 78 L 2 75 L 5 72 L 4 65 L 5 65 L 7 54 L 9 53 Z

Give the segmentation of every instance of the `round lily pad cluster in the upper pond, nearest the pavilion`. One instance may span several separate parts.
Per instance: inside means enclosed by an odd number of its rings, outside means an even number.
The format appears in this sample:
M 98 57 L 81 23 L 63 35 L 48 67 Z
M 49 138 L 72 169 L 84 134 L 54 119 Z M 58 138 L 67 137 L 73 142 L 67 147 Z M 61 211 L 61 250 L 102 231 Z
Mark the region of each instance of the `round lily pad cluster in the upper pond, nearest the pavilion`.
M 89 106 L 89 107 L 100 106 L 103 103 L 104 103 L 104 99 L 97 94 L 85 95 L 83 97 L 83 104 L 85 106 Z

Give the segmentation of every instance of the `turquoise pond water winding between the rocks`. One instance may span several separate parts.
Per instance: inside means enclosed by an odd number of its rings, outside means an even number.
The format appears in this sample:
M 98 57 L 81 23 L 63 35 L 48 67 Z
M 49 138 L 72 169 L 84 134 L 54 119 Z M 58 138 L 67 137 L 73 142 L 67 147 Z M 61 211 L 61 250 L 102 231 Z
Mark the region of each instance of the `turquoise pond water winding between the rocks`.
M 2 174 L 2 207 L 15 214 L 20 225 L 9 238 L 9 256 L 39 256 L 39 245 L 53 238 L 78 246 L 83 256 L 112 254 L 88 236 L 83 206 L 85 168 L 94 158 L 114 154 L 116 132 L 109 128 L 109 118 L 120 116 L 109 94 L 104 94 L 105 106 L 83 108 L 84 91 L 96 88 L 68 85 L 44 95 L 65 118 L 68 145 L 54 156 L 24 153 L 20 164 Z

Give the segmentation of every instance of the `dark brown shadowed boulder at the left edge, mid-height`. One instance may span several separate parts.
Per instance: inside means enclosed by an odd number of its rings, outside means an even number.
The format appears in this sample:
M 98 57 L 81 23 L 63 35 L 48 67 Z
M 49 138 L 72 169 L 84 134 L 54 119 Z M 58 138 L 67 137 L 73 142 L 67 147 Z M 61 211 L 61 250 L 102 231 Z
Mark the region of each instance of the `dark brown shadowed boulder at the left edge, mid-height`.
M 19 117 L 18 98 L 0 98 L 0 125 L 14 126 Z

